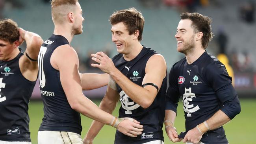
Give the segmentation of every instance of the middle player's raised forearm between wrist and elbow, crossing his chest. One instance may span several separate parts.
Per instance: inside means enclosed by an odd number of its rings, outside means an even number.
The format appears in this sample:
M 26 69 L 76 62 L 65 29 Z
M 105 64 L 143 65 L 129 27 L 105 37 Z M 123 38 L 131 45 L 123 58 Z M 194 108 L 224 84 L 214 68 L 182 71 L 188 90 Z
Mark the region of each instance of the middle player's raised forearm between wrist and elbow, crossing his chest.
M 149 90 L 136 85 L 124 76 L 119 70 L 113 70 L 111 77 L 121 87 L 121 89 L 137 104 L 143 108 L 149 107 L 157 93 L 152 94 Z M 154 88 L 155 89 L 155 88 Z

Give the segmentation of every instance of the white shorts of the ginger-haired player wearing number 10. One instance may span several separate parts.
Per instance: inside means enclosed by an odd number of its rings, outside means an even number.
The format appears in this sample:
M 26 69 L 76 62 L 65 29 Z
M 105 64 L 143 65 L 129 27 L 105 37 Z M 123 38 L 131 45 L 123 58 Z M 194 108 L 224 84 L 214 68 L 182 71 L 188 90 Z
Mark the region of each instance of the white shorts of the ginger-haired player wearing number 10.
M 83 144 L 81 135 L 67 131 L 38 131 L 38 144 Z

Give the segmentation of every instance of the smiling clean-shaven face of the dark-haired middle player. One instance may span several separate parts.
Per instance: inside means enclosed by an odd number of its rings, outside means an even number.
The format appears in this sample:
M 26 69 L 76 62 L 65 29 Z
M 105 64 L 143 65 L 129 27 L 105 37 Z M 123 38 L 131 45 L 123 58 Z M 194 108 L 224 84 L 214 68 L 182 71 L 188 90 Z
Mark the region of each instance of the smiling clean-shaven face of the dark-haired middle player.
M 130 52 L 130 47 L 134 42 L 134 34 L 129 35 L 129 31 L 123 22 L 114 24 L 111 28 L 112 41 L 117 46 L 117 52 L 127 54 Z M 137 39 L 135 39 L 137 40 Z M 138 41 L 138 40 L 137 40 Z

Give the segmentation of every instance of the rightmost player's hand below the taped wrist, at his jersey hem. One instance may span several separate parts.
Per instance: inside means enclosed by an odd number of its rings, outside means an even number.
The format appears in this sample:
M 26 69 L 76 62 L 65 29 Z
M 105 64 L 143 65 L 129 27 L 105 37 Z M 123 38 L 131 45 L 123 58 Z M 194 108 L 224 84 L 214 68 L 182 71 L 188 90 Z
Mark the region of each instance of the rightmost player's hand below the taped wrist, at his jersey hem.
M 193 144 L 197 144 L 201 138 L 202 133 L 200 133 L 197 127 L 195 127 L 187 132 L 182 142 L 192 142 Z

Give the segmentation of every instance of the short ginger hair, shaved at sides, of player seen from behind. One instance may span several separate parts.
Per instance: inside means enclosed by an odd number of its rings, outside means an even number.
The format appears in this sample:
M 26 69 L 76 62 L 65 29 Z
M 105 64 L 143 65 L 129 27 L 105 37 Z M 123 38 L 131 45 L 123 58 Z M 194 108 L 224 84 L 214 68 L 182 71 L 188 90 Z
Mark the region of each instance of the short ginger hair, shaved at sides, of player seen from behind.
M 63 23 L 67 11 L 76 6 L 78 0 L 52 0 L 52 20 L 53 22 Z

